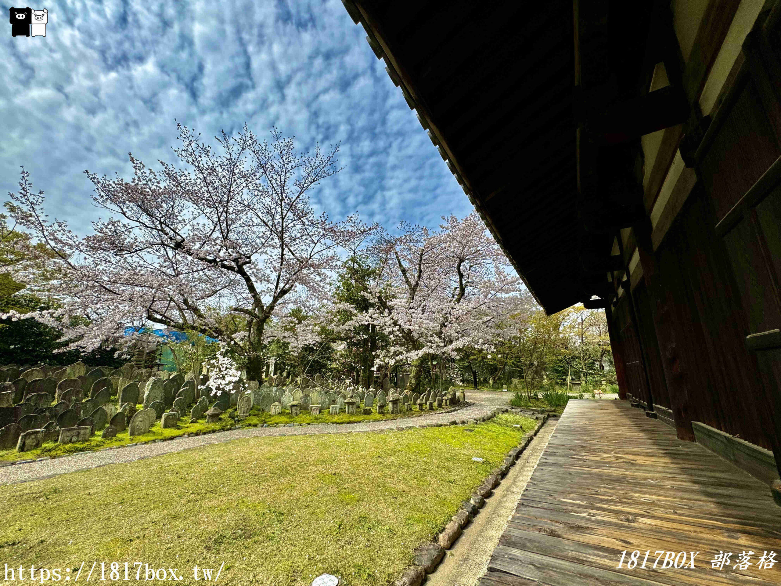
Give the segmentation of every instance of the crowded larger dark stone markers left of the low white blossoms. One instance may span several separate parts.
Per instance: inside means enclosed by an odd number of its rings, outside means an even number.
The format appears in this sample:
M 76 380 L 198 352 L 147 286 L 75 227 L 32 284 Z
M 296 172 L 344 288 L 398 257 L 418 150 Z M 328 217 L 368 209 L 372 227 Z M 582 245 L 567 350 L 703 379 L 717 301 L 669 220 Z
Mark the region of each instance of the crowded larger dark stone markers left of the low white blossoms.
M 210 423 L 217 417 L 209 408 L 223 413 L 246 387 L 241 381 L 234 393 L 213 397 L 206 378 L 198 378 L 130 364 L 0 367 L 0 449 L 26 452 L 47 441 L 87 441 L 98 431 L 103 438 L 126 429 L 141 435 L 158 420 L 162 428 L 177 427 L 183 417 Z

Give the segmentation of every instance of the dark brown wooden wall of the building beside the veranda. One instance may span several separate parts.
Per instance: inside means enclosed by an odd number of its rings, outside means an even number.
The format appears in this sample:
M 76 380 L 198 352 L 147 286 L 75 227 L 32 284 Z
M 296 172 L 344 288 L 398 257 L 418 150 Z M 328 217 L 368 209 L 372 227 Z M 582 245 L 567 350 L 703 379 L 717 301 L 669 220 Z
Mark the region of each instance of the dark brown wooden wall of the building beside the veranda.
M 697 185 L 612 311 L 629 392 L 772 449 L 781 463 L 781 8 L 764 14 L 694 157 Z M 642 245 L 640 234 L 638 242 Z M 639 337 L 634 333 L 635 327 Z M 666 383 L 666 384 L 665 384 Z

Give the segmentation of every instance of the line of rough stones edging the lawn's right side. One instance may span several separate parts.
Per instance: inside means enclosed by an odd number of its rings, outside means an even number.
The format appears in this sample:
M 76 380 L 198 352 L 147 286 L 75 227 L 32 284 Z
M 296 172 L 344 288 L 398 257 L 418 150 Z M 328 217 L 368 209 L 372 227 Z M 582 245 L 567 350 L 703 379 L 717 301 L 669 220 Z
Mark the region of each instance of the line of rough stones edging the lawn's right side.
M 507 407 L 501 409 L 494 409 L 494 412 L 490 413 L 490 416 L 483 416 L 480 419 L 483 421 L 489 420 L 496 416 L 498 413 L 508 411 Z M 485 506 L 486 498 L 490 498 L 494 494 L 494 488 L 501 483 L 501 479 L 504 478 L 510 471 L 512 466 L 515 466 L 515 462 L 521 457 L 522 453 L 530 445 L 532 439 L 537 435 L 542 426 L 547 422 L 548 415 L 544 414 L 540 423 L 537 423 L 537 427 L 523 436 L 522 441 L 515 448 L 512 448 L 507 457 L 502 462 L 502 465 L 493 470 L 483 484 L 480 485 L 472 495 L 469 501 L 464 502 L 461 509 L 458 509 L 458 513 L 452 517 L 450 523 L 445 525 L 444 529 L 437 536 L 435 543 L 426 543 L 420 546 L 415 553 L 415 561 L 411 566 L 408 566 L 401 577 L 394 582 L 395 586 L 420 586 L 426 577 L 426 574 L 433 573 L 437 569 L 442 559 L 444 559 L 444 552 L 446 549 L 450 549 L 455 541 L 461 536 L 464 527 L 469 524 L 469 521 L 478 513 L 480 509 Z

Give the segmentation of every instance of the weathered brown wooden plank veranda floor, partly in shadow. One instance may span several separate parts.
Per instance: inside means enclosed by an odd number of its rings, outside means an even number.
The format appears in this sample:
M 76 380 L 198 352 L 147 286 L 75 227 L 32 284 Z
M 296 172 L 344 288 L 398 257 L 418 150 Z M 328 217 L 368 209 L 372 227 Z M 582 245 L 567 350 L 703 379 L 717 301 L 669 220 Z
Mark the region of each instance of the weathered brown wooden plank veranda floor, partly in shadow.
M 694 569 L 662 569 L 664 556 L 654 569 L 658 550 L 700 553 Z M 729 566 L 711 569 L 722 551 Z M 754 565 L 733 568 L 748 551 Z M 758 569 L 765 551 L 776 565 Z M 781 507 L 766 484 L 626 401 L 573 399 L 480 580 L 499 584 L 781 584 Z

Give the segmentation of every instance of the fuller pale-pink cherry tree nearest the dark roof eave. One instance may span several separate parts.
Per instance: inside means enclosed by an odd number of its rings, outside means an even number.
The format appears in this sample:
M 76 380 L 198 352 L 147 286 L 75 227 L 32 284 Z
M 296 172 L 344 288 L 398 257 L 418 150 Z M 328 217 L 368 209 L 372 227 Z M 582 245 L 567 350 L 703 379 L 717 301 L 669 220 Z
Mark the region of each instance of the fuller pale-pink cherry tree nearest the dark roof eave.
M 419 385 L 424 361 L 433 372 L 435 358 L 441 365 L 461 348 L 490 348 L 497 335 L 512 334 L 508 318 L 528 315 L 532 306 L 476 213 L 443 220 L 433 232 L 401 223 L 398 234 L 373 241 L 369 252 L 380 270 L 366 284 L 372 304 L 348 323 L 373 323 L 391 339 L 376 366 L 412 364 L 410 388 Z

